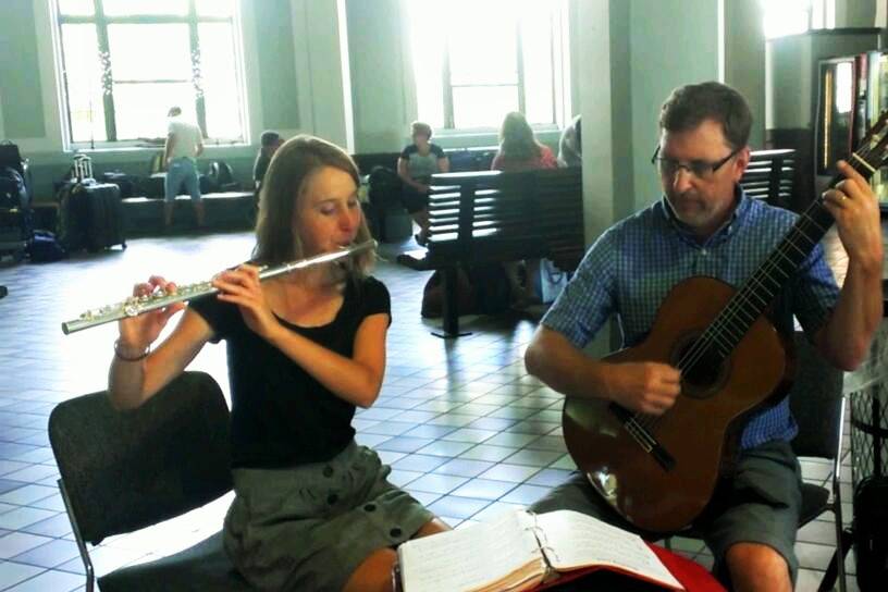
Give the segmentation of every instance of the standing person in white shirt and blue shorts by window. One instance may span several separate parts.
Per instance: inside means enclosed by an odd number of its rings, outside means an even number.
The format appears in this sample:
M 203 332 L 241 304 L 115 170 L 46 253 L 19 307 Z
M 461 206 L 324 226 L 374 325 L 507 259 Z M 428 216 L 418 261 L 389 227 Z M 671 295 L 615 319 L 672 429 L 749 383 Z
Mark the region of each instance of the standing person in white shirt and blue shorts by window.
M 163 162 L 166 164 L 166 181 L 163 185 L 163 225 L 166 232 L 173 224 L 173 206 L 182 185 L 192 196 L 197 225 L 203 227 L 203 202 L 200 201 L 200 184 L 197 180 L 197 157 L 203 152 L 203 134 L 200 127 L 182 118 L 182 109 L 172 107 L 168 113 L 166 145 Z

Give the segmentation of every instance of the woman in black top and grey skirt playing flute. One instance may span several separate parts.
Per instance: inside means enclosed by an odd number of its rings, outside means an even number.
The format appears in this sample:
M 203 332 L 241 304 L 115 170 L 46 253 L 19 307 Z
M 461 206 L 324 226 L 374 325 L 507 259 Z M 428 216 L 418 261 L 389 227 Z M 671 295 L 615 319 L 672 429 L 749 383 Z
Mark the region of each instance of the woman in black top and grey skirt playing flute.
M 387 592 L 395 547 L 447 530 L 355 442 L 355 409 L 377 400 L 385 372 L 388 291 L 367 274 L 369 252 L 261 283 L 256 267 L 368 240 L 358 170 L 341 148 L 298 136 L 264 184 L 254 259 L 213 279 L 218 296 L 190 303 L 155 350 L 181 303 L 120 322 L 111 402 L 143 405 L 207 342 L 225 340 L 235 492 L 226 554 L 260 590 Z M 158 288 L 175 292 L 156 275 L 133 292 Z

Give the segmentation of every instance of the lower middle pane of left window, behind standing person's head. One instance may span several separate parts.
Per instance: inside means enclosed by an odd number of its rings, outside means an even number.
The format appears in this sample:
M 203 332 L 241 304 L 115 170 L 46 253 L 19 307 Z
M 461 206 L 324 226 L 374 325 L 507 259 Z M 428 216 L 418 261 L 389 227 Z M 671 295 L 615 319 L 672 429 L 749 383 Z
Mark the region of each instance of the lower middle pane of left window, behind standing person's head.
M 184 118 L 197 121 L 192 83 L 115 83 L 118 139 L 166 137 L 166 112 L 173 106 L 182 108 Z

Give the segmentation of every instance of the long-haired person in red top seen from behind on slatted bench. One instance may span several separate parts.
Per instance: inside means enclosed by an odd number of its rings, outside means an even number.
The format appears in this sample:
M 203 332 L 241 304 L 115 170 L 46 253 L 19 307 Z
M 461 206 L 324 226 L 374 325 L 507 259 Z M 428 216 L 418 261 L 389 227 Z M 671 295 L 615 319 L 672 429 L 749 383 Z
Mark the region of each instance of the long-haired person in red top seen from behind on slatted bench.
M 533 171 L 535 169 L 555 169 L 557 163 L 548 146 L 544 146 L 533 136 L 533 130 L 528 124 L 525 115 L 513 111 L 503 120 L 499 128 L 499 151 L 493 158 L 491 169 L 505 172 Z M 525 263 L 525 278 L 529 279 L 532 273 L 539 273 L 540 260 L 528 259 Z M 531 282 L 522 285 L 520 278 L 520 261 L 508 261 L 503 263 L 506 278 L 509 282 L 510 300 L 515 308 L 527 308 L 529 305 L 539 303 L 539 295 L 534 294 Z

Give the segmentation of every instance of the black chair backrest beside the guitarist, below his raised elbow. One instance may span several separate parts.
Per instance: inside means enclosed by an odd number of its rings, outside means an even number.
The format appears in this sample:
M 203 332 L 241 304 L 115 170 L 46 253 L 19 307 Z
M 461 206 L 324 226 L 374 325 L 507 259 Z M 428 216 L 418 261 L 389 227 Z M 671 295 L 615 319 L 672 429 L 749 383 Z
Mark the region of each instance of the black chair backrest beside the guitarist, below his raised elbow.
M 798 456 L 832 459 L 839 446 L 843 373 L 832 367 L 801 331 L 795 332 L 795 381 L 789 395 L 799 435 L 792 441 Z

